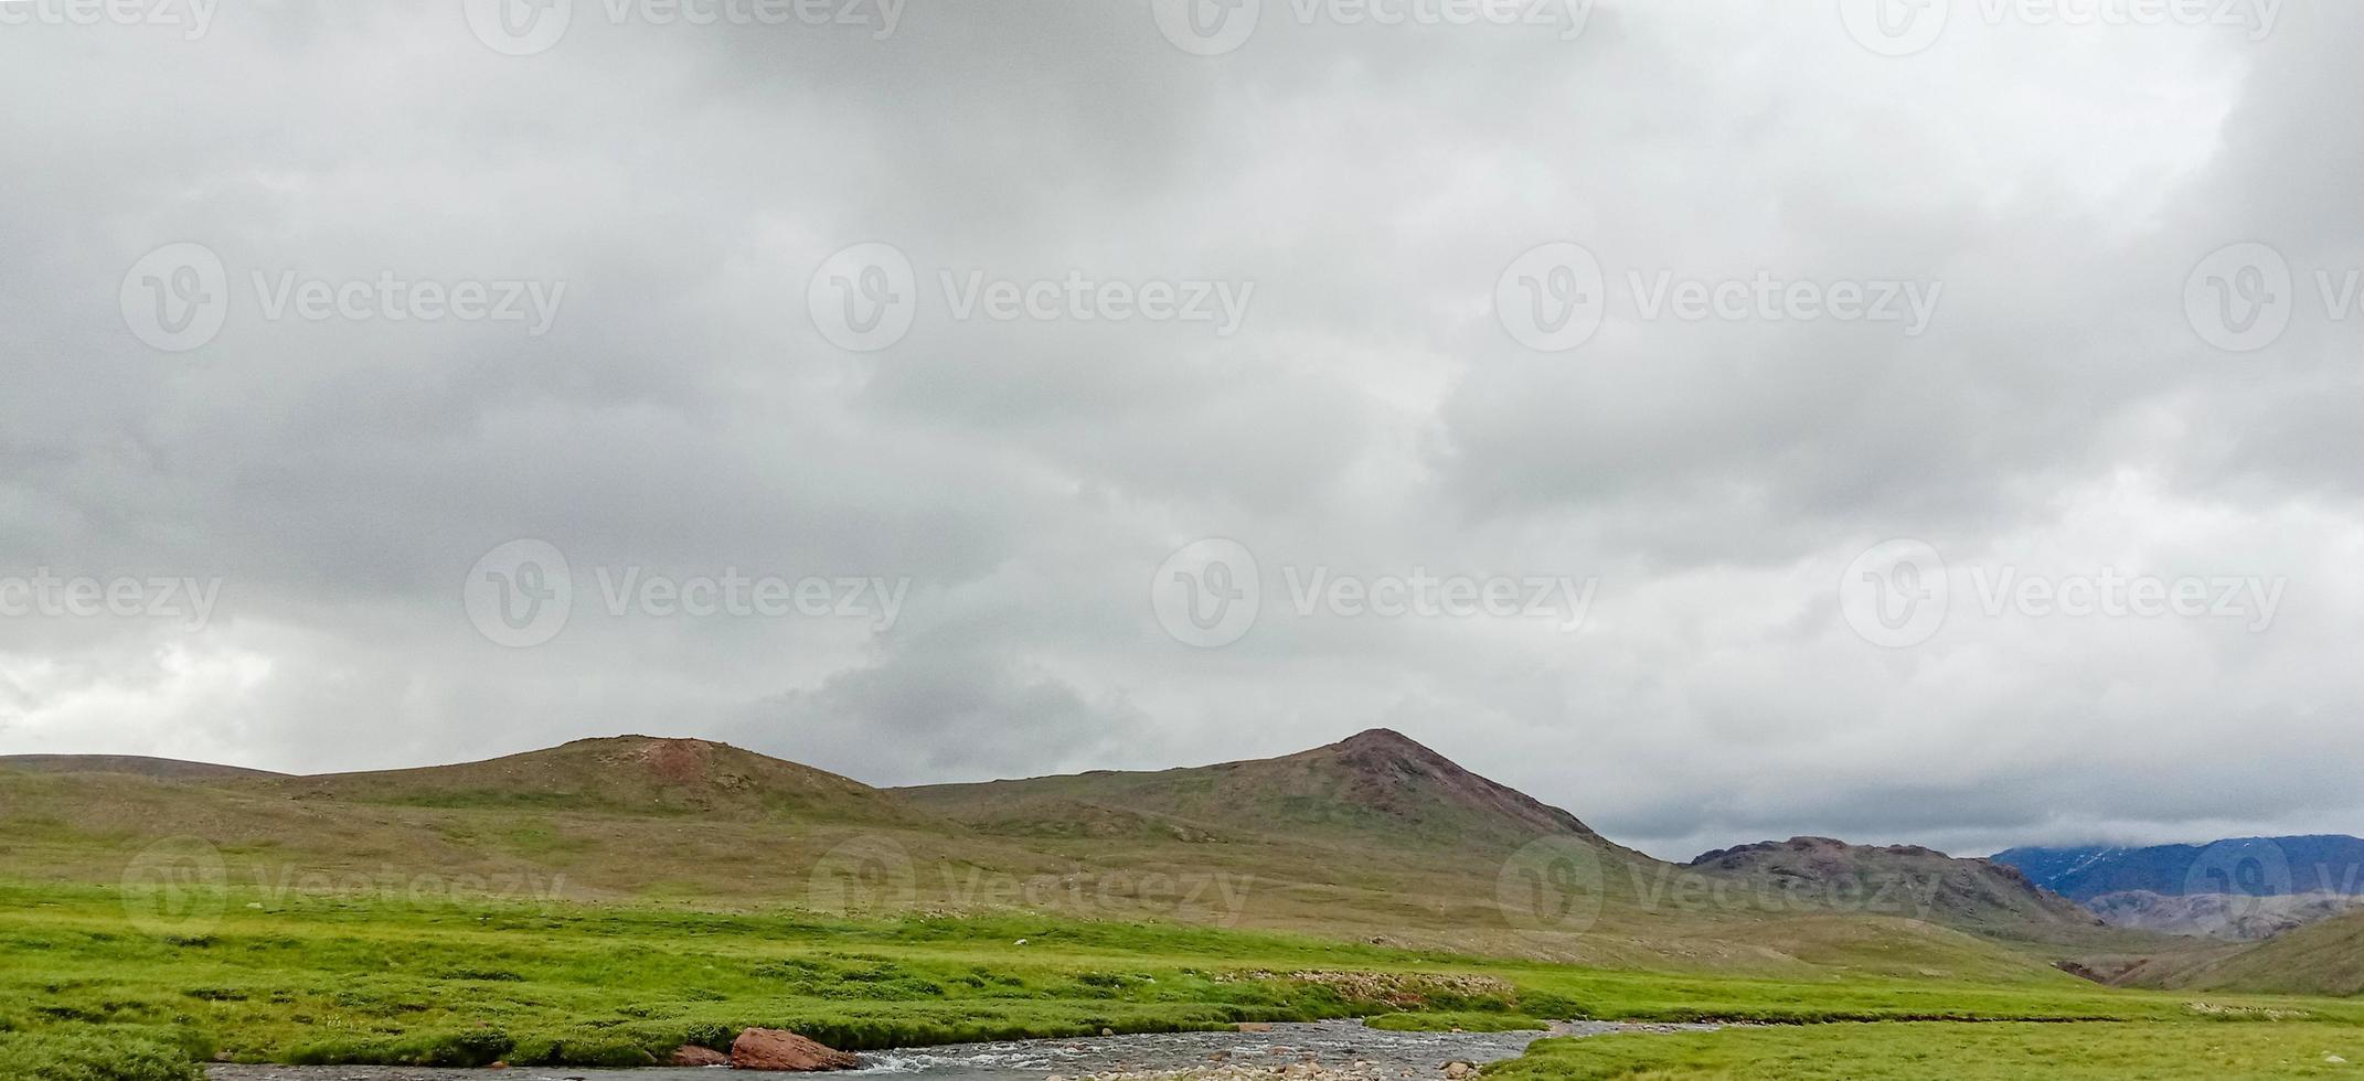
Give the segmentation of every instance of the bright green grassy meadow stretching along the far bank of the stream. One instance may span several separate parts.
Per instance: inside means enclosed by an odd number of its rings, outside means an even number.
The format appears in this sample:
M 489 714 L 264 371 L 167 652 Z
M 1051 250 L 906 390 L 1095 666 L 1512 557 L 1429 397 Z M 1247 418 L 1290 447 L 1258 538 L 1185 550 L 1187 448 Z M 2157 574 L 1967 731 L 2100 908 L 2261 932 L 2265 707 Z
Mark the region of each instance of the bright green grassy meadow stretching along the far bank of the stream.
M 2090 1024 L 1960 1031 L 1962 1039 L 2059 1034 L 2099 1041 L 2130 1031 L 2177 1041 L 2303 1031 L 2314 1043 L 2364 1034 L 2364 1003 L 2213 996 L 2206 1001 L 2210 1013 L 2199 1013 L 2187 996 L 2113 991 L 2064 975 L 2005 982 L 1662 975 L 1026 913 L 832 921 L 804 911 L 577 902 L 421 906 L 232 890 L 217 906 L 158 923 L 151 902 L 99 885 L 0 885 L 0 1048 L 61 1048 L 104 1036 L 99 1043 L 135 1048 L 149 1060 L 156 1048 L 177 1048 L 187 1057 L 241 1062 L 626 1067 L 660 1062 L 683 1043 L 728 1046 L 745 1027 L 785 1027 L 863 1050 L 1369 1015 L 1397 1015 L 1388 1027 L 1421 1027 L 1402 1015 L 1425 1013 L 1437 1013 L 1437 1027 L 1466 1029 L 1489 1027 L 1489 1020 L 1527 1024 L 1530 1017 L 2054 1020 Z M 2265 1017 L 2265 1010 L 2288 1022 L 2220 1020 Z M 1754 1053 L 1756 1031 L 1707 1036 L 1702 1055 Z M 1920 1041 L 1957 1027 L 1785 1024 L 1761 1031 L 1804 1039 L 1799 1053 L 1813 1053 L 1816 1039 L 1879 1043 L 1882 1034 L 1896 1034 Z M 1740 1050 L 1716 1043 L 1726 1036 Z M 1693 1043 L 1683 1036 L 1678 1046 Z M 1615 1043 L 1645 1046 L 1643 1039 Z M 1782 1048 L 1790 1043 L 1768 1053 L 1790 1053 Z M 1612 1060 L 1563 1062 L 1563 1055 L 1570 1053 L 1553 1046 L 1530 1067 L 1629 1076 L 1598 1072 L 1622 1069 Z M 21 1055 L 12 1057 L 17 1067 L 0 1069 L 26 1069 Z M 1702 1062 L 1723 1069 L 1714 1057 Z M 1730 1069 L 1742 1069 L 1735 1076 L 1764 1076 L 1752 1074 L 1747 1060 L 1733 1062 Z M 125 1067 L 17 1076 L 182 1074 Z

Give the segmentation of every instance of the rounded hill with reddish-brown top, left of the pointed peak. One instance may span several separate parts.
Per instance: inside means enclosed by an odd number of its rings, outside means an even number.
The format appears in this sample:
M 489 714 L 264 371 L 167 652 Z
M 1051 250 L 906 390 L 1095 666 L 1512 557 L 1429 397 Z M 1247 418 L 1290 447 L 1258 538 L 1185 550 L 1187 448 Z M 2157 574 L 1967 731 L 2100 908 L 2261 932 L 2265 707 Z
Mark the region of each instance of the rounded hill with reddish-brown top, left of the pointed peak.
M 608 736 L 485 762 L 272 781 L 300 800 L 631 814 L 920 819 L 868 784 L 709 739 Z

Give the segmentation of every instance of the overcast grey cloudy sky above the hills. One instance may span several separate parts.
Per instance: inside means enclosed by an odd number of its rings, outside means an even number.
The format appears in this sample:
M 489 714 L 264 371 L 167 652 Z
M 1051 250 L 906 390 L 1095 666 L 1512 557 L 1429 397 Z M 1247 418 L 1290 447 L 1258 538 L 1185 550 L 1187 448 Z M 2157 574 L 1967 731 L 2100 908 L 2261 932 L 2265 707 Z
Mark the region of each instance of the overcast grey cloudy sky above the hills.
M 2364 9 L 0 0 L 0 753 L 2364 833 Z

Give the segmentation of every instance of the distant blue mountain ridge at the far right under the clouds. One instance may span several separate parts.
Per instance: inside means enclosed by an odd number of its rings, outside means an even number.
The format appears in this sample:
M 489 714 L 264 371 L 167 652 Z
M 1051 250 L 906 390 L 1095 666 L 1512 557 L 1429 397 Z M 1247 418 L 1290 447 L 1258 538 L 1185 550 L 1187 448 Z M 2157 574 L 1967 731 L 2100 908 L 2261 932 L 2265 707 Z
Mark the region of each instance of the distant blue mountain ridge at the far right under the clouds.
M 2364 895 L 2364 840 L 2338 833 L 2234 838 L 2213 845 L 2014 847 L 1995 852 L 1993 859 L 2078 902 L 2125 890 L 2163 897 Z

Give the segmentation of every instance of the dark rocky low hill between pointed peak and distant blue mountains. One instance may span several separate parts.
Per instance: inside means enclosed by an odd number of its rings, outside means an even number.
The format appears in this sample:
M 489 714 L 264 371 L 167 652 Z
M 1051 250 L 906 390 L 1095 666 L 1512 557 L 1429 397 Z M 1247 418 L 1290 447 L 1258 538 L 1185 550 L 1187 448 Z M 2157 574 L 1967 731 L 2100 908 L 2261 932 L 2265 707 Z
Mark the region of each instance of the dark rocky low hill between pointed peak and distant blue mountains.
M 1915 918 L 2000 937 L 2102 925 L 2095 913 L 2038 887 L 2019 869 L 1990 859 L 1955 859 L 1920 845 L 1790 838 L 1707 852 L 1686 866 L 1761 876 L 1790 895 L 1839 904 L 1856 899 L 1870 911 L 1896 906 L 1894 911 Z

